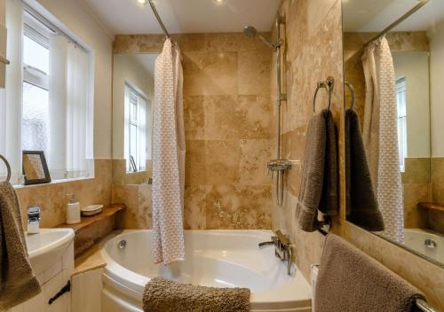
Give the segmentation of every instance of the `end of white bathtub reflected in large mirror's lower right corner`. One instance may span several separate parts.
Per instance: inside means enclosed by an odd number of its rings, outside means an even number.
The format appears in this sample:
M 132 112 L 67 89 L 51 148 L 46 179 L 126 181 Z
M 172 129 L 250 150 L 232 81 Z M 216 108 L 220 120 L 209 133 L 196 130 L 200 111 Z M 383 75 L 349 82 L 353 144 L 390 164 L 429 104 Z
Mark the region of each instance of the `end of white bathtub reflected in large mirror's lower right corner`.
M 427 242 L 427 239 L 430 241 Z M 432 230 L 406 229 L 404 231 L 404 245 L 416 253 L 425 255 L 432 261 L 440 263 L 444 261 L 444 237 Z

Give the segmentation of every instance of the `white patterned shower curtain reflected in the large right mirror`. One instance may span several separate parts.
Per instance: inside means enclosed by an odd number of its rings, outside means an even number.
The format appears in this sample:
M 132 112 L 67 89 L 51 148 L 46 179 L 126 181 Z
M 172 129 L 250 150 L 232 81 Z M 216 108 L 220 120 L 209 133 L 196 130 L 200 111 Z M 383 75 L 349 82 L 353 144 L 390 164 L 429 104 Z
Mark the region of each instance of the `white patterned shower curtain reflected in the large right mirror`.
M 400 181 L 395 73 L 385 37 L 370 43 L 362 55 L 365 74 L 364 146 L 377 201 L 384 217 L 383 235 L 404 240 L 404 207 Z

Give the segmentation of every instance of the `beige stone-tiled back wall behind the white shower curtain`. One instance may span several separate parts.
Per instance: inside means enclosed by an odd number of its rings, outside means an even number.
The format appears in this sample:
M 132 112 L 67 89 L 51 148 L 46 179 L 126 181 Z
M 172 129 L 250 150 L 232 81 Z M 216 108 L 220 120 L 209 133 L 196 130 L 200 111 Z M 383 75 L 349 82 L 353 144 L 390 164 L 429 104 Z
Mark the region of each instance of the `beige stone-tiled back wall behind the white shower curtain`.
M 186 229 L 269 229 L 271 50 L 242 33 L 173 39 L 184 68 Z M 114 51 L 158 53 L 163 41 L 117 35 Z

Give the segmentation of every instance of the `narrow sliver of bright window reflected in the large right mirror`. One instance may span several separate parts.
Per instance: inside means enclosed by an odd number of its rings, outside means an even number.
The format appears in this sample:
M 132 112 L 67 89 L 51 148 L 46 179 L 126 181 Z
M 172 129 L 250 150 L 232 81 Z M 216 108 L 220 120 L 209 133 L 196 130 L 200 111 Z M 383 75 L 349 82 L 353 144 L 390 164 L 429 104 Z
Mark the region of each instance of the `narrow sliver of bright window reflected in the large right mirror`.
M 398 144 L 400 152 L 400 171 L 405 171 L 407 157 L 407 98 L 406 78 L 396 81 L 396 104 L 398 106 Z

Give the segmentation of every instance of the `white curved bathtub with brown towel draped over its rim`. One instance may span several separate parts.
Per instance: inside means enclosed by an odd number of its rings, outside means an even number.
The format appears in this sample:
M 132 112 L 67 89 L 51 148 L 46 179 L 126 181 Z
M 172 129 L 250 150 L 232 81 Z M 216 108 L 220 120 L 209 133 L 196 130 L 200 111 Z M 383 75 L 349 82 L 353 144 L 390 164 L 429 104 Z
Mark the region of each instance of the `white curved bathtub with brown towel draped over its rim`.
M 270 240 L 270 230 L 186 230 L 186 260 L 170 266 L 153 263 L 151 235 L 151 230 L 123 230 L 101 246 L 107 261 L 102 311 L 142 311 L 145 285 L 159 276 L 194 285 L 248 287 L 250 311 L 311 311 L 311 287 L 296 265 L 289 276 L 274 247 L 258 248 Z

